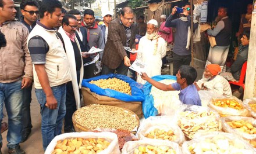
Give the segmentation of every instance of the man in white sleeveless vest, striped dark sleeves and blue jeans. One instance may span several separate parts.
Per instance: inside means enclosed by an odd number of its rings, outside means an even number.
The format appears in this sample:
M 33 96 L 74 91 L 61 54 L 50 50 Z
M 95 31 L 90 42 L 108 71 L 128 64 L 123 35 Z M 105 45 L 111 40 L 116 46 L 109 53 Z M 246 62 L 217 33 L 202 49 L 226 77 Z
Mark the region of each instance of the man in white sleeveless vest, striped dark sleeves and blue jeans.
M 61 9 L 62 4 L 58 0 L 43 0 L 41 20 L 37 21 L 27 39 L 33 63 L 35 95 L 41 106 L 44 150 L 56 135 L 61 134 L 66 114 L 66 83 L 72 79 L 69 61 L 54 28 L 58 26 Z

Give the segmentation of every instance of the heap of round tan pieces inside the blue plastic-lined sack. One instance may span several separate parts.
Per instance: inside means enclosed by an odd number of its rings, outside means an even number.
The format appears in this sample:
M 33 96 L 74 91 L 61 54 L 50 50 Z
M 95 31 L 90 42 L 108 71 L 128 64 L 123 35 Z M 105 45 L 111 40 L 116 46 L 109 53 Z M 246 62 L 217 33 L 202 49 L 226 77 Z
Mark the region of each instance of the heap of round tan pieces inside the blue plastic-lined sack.
M 89 83 L 97 85 L 102 89 L 112 89 L 119 91 L 120 93 L 126 93 L 131 95 L 131 87 L 129 83 L 118 78 L 91 80 Z

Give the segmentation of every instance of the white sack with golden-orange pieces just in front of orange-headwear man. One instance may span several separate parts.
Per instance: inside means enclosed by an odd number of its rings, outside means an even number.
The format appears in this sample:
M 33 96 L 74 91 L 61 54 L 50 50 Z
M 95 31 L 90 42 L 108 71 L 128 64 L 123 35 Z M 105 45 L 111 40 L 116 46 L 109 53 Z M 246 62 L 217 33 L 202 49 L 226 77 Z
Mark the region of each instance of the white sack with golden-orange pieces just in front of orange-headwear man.
M 250 116 L 250 112 L 244 107 L 243 102 L 236 97 L 212 98 L 208 107 L 217 111 L 221 116 Z

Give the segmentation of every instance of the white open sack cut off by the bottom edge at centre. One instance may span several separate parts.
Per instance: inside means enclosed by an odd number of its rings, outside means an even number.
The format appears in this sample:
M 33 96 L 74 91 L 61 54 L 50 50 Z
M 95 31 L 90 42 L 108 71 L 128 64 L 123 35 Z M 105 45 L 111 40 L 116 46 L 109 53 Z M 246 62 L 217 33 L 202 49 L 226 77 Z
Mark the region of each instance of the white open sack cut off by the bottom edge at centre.
M 165 140 L 140 140 L 126 142 L 122 149 L 122 154 L 137 153 L 182 153 L 180 146 L 175 142 Z

